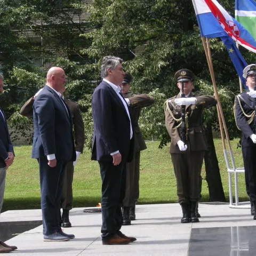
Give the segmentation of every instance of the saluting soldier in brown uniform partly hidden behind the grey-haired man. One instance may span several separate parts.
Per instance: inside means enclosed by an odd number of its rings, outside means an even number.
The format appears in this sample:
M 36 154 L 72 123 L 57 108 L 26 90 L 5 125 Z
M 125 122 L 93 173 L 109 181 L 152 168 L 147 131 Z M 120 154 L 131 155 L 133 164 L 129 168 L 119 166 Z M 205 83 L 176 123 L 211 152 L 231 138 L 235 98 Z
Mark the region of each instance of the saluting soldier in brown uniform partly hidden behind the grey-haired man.
M 145 140 L 138 124 L 140 111 L 143 107 L 151 106 L 155 99 L 147 94 L 134 94 L 129 92 L 132 76 L 125 73 L 121 85 L 121 93 L 125 98 L 134 127 L 134 149 L 132 162 L 126 164 L 126 191 L 123 201 L 123 225 L 131 225 L 131 220 L 135 220 L 135 204 L 139 198 L 139 178 L 140 178 L 140 151 L 147 148 Z

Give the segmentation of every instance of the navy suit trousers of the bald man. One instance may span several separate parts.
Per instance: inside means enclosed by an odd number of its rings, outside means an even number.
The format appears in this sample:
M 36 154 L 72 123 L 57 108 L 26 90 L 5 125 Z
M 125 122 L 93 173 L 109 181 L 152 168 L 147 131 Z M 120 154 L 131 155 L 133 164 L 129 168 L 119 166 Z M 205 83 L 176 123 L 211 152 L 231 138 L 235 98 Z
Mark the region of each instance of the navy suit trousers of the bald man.
M 50 235 L 61 231 L 60 199 L 67 162 L 57 160 L 50 167 L 46 157 L 38 158 L 41 187 L 41 209 L 43 215 L 43 234 Z

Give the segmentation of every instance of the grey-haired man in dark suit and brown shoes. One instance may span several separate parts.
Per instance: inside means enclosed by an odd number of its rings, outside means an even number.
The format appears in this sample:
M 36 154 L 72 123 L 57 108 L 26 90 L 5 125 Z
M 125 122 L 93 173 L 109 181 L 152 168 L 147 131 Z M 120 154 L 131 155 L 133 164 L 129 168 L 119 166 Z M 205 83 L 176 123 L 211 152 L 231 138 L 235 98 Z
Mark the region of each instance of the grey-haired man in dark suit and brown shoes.
M 126 162 L 132 156 L 133 130 L 128 106 L 119 84 L 124 78 L 122 59 L 106 56 L 103 81 L 92 95 L 92 160 L 100 165 L 102 180 L 102 244 L 128 244 L 136 240 L 121 231 L 121 204 L 125 196 Z

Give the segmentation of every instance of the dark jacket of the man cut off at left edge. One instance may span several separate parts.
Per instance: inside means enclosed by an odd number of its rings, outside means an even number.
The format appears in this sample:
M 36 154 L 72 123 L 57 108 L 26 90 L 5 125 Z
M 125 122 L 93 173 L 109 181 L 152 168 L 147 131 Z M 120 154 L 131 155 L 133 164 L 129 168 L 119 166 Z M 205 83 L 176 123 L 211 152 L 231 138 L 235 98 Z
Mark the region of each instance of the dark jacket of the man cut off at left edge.
M 3 115 L 4 112 L 2 111 Z M 14 155 L 13 151 L 13 146 L 12 142 L 10 139 L 9 131 L 8 131 L 8 126 L 6 123 L 6 117 L 0 113 L 0 168 L 4 168 L 6 166 L 4 160 L 8 158 L 8 153 L 7 152 L 12 152 Z

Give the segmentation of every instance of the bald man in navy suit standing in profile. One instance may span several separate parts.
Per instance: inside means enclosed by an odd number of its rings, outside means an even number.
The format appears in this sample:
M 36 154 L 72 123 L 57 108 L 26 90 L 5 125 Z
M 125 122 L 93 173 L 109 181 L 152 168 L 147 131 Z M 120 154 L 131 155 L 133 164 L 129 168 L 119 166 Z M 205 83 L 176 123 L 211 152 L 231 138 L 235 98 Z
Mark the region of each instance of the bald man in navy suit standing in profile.
M 62 68 L 52 67 L 33 105 L 32 158 L 39 163 L 44 241 L 68 241 L 74 235 L 60 227 L 60 200 L 67 162 L 76 160 L 72 115 L 60 91 L 65 89 Z

